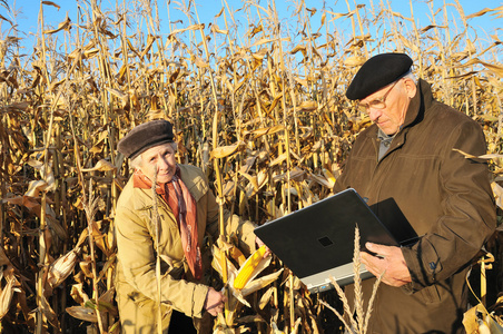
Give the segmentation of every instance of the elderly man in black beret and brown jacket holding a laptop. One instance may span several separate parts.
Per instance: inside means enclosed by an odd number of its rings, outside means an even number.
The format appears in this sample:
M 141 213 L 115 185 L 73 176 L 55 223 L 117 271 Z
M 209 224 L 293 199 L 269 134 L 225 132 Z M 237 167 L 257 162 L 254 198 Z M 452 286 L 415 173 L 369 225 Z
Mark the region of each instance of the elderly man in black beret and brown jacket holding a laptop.
M 412 63 L 383 53 L 353 78 L 346 96 L 374 125 L 358 135 L 335 190 L 355 188 L 382 220 L 405 216 L 420 236 L 403 247 L 365 245 L 363 264 L 385 283 L 368 332 L 461 333 L 470 264 L 496 218 L 486 164 L 457 150 L 483 155 L 485 139 L 474 120 L 415 82 Z M 364 282 L 366 297 L 372 284 Z

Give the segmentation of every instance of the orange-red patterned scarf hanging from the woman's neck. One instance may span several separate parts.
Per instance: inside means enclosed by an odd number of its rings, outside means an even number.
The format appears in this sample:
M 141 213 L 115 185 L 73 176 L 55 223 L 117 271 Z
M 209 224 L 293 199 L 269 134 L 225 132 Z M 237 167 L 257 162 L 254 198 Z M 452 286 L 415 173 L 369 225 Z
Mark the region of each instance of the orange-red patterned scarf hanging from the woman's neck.
M 139 169 L 132 175 L 132 181 L 135 188 L 149 189 L 152 185 L 151 180 Z M 181 246 L 184 247 L 190 272 L 196 279 L 200 279 L 203 276 L 203 264 L 197 234 L 196 199 L 181 180 L 178 165 L 172 179 L 169 183 L 157 185 L 156 193 L 171 208 L 178 223 Z

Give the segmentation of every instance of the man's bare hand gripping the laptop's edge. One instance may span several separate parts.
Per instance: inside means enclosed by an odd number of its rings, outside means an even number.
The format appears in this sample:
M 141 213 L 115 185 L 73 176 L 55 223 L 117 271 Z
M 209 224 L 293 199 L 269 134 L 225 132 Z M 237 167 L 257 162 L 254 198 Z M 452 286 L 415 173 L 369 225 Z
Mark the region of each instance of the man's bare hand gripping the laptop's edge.
M 384 246 L 366 243 L 365 247 L 377 254 L 373 256 L 366 252 L 361 253 L 362 263 L 368 272 L 379 277 L 384 272 L 383 282 L 391 286 L 402 286 L 412 282 L 402 249 L 395 246 Z

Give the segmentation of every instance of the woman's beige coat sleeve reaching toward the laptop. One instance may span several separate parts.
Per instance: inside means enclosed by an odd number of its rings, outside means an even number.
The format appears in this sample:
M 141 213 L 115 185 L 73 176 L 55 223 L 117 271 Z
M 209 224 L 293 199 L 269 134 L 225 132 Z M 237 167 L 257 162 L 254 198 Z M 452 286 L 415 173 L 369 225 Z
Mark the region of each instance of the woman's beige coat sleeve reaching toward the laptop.
M 208 225 L 207 232 L 216 239 L 219 235 L 219 206 L 211 190 L 208 190 Z M 226 235 L 235 234 L 239 240 L 239 248 L 245 254 L 250 254 L 255 250 L 255 234 L 256 227 L 249 220 L 245 220 L 237 215 L 231 214 L 224 208 L 224 225 Z

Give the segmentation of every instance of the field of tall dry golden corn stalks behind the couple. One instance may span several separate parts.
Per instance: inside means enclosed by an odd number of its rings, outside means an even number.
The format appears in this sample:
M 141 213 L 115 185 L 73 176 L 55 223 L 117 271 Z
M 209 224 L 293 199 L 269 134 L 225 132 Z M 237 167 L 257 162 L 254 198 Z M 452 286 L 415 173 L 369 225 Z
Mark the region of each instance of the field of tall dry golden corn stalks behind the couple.
M 466 14 L 458 0 L 428 1 L 432 20 L 418 27 L 414 14 L 384 0 L 372 7 L 346 0 L 344 13 L 292 1 L 286 21 L 274 0 L 243 1 L 238 10 L 224 0 L 215 20 L 201 22 L 193 0 L 180 0 L 168 9 L 186 19 L 161 26 L 155 1 L 110 9 L 77 0 L 78 16 L 50 27 L 43 11 L 57 2 L 38 3 L 39 32 L 27 49 L 17 13 L 0 0 L 9 13 L 0 16 L 4 333 L 118 333 L 114 215 L 130 171 L 117 143 L 132 127 L 172 121 L 178 161 L 201 167 L 227 209 L 260 225 L 332 195 L 341 163 L 369 125 L 345 90 L 379 52 L 410 55 L 414 75 L 432 84 L 436 99 L 484 127 L 503 206 L 502 41 L 477 39 L 470 26 L 486 17 L 502 27 L 502 7 Z M 443 4 L 436 11 L 433 2 Z M 343 22 L 348 30 L 338 29 Z M 502 230 L 499 222 L 490 254 L 476 266 L 487 278 L 472 275 L 474 298 L 500 324 Z M 275 273 L 227 310 L 216 331 L 342 330 L 327 308 L 339 307 L 338 298 L 310 295 L 277 259 L 260 274 Z

